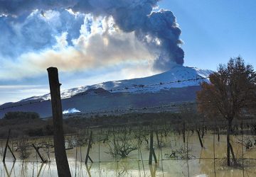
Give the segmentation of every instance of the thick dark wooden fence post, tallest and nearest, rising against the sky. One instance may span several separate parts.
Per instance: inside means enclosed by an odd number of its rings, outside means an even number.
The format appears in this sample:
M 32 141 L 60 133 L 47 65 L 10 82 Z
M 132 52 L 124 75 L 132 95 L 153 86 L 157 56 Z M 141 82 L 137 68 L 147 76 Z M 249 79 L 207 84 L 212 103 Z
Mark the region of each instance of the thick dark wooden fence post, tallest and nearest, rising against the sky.
M 60 99 L 60 83 L 58 79 L 58 69 L 49 67 L 47 69 L 50 97 L 53 111 L 53 140 L 54 153 L 58 170 L 58 176 L 71 176 L 68 166 L 67 154 L 65 152 L 65 139 L 63 133 L 63 110 Z

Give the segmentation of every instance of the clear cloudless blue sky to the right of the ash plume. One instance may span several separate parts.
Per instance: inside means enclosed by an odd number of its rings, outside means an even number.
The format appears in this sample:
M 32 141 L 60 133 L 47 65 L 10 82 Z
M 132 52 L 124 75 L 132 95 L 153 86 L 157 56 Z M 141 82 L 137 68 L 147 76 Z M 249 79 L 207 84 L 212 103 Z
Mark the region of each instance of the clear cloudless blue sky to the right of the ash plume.
M 215 70 L 219 63 L 241 55 L 256 67 L 256 1 L 169 0 L 182 30 L 185 64 Z

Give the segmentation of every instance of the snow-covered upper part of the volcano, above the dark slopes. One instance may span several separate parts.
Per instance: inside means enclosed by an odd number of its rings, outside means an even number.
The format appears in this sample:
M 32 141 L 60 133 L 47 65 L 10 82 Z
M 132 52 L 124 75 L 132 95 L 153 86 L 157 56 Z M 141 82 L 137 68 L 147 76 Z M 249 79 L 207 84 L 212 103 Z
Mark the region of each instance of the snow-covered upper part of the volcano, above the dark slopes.
M 183 67 L 177 65 L 167 72 L 156 74 L 137 79 L 127 79 L 120 81 L 107 81 L 92 86 L 81 86 L 68 89 L 61 92 L 62 98 L 70 98 L 78 93 L 85 92 L 89 89 L 102 88 L 112 93 L 129 92 L 129 93 L 149 93 L 161 90 L 169 90 L 171 88 L 182 88 L 186 86 L 199 86 L 202 81 L 208 82 L 207 78 L 213 71 L 208 69 L 198 69 L 196 67 Z M 50 93 L 43 96 L 33 96 L 22 101 L 29 100 L 47 100 Z

